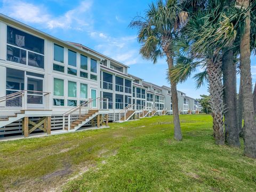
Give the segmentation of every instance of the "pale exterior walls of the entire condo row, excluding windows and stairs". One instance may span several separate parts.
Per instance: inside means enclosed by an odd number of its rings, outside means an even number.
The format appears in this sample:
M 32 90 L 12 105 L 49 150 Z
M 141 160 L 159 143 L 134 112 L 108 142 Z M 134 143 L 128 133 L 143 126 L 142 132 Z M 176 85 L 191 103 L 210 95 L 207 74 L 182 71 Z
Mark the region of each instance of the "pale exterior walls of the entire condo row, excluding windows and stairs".
M 53 115 L 61 115 L 65 113 L 67 110 L 70 110 L 74 106 L 68 106 L 68 100 L 76 100 L 77 105 L 79 105 L 80 101 L 84 101 L 86 99 L 92 98 L 91 90 L 94 89 L 97 91 L 97 97 L 102 97 L 103 92 L 109 92 L 113 93 L 113 109 L 112 112 L 119 113 L 119 111 L 122 111 L 122 109 L 116 109 L 116 94 L 122 94 L 123 95 L 123 101 L 125 102 L 125 95 L 129 96 L 131 98 L 131 103 L 137 103 L 138 100 L 141 100 L 141 106 L 147 106 L 147 103 L 150 104 L 150 106 L 156 107 L 158 104 L 164 104 L 163 109 L 167 108 L 167 110 L 171 110 L 171 95 L 170 95 L 170 89 L 164 89 L 163 87 L 159 87 L 157 85 L 154 85 L 152 83 L 145 84 L 142 83 L 141 78 L 137 78 L 135 76 L 128 74 L 128 67 L 125 65 L 122 65 L 122 63 L 118 63 L 115 60 L 112 60 L 108 57 L 105 57 L 104 55 L 95 52 L 93 50 L 86 51 L 86 47 L 83 47 L 82 45 L 74 45 L 74 44 L 67 44 L 66 42 L 60 41 L 59 39 L 55 39 L 54 37 L 51 37 L 47 34 L 41 33 L 40 31 L 37 31 L 36 29 L 30 28 L 28 26 L 23 26 L 21 23 L 15 23 L 15 21 L 7 22 L 6 19 L 1 19 L 0 17 L 0 97 L 3 97 L 6 95 L 6 68 L 11 69 L 17 69 L 22 71 L 27 71 L 31 73 L 41 74 L 44 75 L 43 78 L 43 91 L 44 92 L 50 92 L 50 106 L 52 109 Z M 21 65 L 21 63 L 16 63 L 12 61 L 7 61 L 6 54 L 6 43 L 7 43 L 7 25 L 14 27 L 18 30 L 24 31 L 27 34 L 39 37 L 41 39 L 44 39 L 44 68 L 37 68 L 32 67 L 28 65 Z M 64 47 L 64 60 L 62 62 L 54 61 L 54 44 L 60 45 Z M 21 47 L 17 47 L 18 49 L 22 49 Z M 68 65 L 68 50 L 76 52 L 76 67 L 72 67 Z M 81 63 L 81 57 L 80 55 L 83 54 L 87 57 L 87 70 L 81 69 L 80 63 Z M 94 74 L 91 72 L 91 59 L 94 59 L 97 61 L 97 73 Z M 27 61 L 26 61 L 27 62 Z M 53 63 L 62 66 L 65 68 L 65 72 L 60 72 L 57 70 L 53 70 Z M 101 63 L 101 64 L 100 64 Z M 110 63 L 114 63 L 114 65 L 117 67 L 116 69 L 110 69 Z M 101 67 L 102 66 L 102 67 Z M 106 68 L 105 68 L 106 67 Z M 118 71 L 118 67 L 123 68 L 123 72 Z M 70 75 L 67 73 L 68 68 L 72 68 L 77 70 L 77 75 Z M 79 74 L 83 71 L 87 73 L 88 77 L 84 78 L 81 77 Z M 103 89 L 103 83 L 101 81 L 102 73 L 105 71 L 106 73 L 110 73 L 113 75 L 113 90 L 106 90 Z M 90 75 L 97 75 L 97 80 L 90 79 Z M 132 89 L 134 87 L 135 92 L 133 94 L 133 90 L 131 93 L 125 93 L 125 92 L 119 92 L 116 90 L 116 82 L 115 77 L 119 76 L 124 79 L 129 79 L 132 81 L 131 86 Z M 54 78 L 62 79 L 64 82 L 64 95 L 63 96 L 57 96 L 54 95 Z M 76 83 L 76 97 L 70 98 L 68 97 L 68 82 L 75 82 Z M 26 84 L 26 81 L 25 81 Z M 87 85 L 87 98 L 81 98 L 81 84 Z M 143 87 L 144 86 L 144 87 Z M 147 86 L 147 88 L 145 88 Z M 145 90 L 145 98 L 138 98 L 137 96 L 137 87 Z M 159 93 L 157 93 L 159 92 Z M 153 101 L 147 102 L 147 93 L 153 94 Z M 156 101 L 156 96 L 164 97 L 162 102 Z M 186 97 L 186 95 L 184 96 Z M 179 102 L 179 110 L 183 111 L 183 98 L 180 95 L 180 92 L 178 91 L 178 102 Z M 53 99 L 63 99 L 64 100 L 64 106 L 54 106 L 53 105 Z M 189 99 L 190 100 L 190 99 Z M 189 102 L 189 109 L 194 108 L 194 100 L 191 100 L 191 103 Z M 5 103 L 0 103 L 1 106 L 5 106 Z M 6 109 L 6 108 L 5 108 Z M 10 109 L 6 109 L 9 110 Z M 3 111 L 3 109 L 2 109 Z

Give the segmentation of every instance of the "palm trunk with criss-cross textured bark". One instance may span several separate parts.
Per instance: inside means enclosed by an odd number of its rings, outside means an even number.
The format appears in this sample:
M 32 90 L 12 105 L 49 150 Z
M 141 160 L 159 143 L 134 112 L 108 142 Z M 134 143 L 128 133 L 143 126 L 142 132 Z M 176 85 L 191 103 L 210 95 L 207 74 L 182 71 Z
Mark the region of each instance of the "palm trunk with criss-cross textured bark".
M 221 63 L 210 61 L 207 65 L 207 75 L 212 108 L 214 139 L 217 145 L 224 145 Z

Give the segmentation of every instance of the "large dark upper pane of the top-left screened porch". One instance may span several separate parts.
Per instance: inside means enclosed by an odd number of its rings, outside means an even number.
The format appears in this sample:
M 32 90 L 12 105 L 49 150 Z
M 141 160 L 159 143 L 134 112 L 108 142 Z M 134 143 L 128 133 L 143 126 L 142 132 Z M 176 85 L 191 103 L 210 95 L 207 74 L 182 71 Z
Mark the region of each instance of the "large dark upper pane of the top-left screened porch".
M 7 43 L 44 54 L 44 39 L 7 26 Z

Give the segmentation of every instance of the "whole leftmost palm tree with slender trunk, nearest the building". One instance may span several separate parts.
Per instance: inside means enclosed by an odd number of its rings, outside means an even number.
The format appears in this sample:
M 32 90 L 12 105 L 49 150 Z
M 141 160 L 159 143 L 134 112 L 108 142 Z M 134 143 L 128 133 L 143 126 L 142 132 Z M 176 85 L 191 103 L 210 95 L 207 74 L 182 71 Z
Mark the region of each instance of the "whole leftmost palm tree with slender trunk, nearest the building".
M 135 17 L 130 27 L 138 28 L 138 41 L 141 43 L 140 54 L 143 58 L 157 62 L 158 58 L 166 57 L 169 69 L 173 68 L 172 41 L 176 30 L 187 19 L 182 12 L 179 1 L 158 0 L 152 3 L 145 17 Z M 171 81 L 171 94 L 174 119 L 174 138 L 182 139 L 178 109 L 177 84 Z

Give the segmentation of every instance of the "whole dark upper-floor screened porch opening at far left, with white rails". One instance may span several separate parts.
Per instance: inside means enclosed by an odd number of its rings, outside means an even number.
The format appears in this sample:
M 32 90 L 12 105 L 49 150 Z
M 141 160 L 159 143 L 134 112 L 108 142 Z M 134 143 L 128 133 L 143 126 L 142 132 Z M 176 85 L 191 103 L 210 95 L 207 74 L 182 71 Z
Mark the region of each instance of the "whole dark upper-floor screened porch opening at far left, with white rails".
M 44 39 L 7 26 L 6 60 L 44 68 Z

